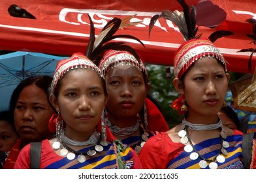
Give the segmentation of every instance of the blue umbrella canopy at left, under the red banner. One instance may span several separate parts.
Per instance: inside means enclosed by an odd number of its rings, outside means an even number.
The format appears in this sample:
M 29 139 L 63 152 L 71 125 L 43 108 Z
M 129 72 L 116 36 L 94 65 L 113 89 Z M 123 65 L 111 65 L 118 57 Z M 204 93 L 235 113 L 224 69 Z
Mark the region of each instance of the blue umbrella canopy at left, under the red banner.
M 57 57 L 42 53 L 17 51 L 0 56 L 0 110 L 8 109 L 12 91 L 27 77 L 33 75 L 54 75 Z

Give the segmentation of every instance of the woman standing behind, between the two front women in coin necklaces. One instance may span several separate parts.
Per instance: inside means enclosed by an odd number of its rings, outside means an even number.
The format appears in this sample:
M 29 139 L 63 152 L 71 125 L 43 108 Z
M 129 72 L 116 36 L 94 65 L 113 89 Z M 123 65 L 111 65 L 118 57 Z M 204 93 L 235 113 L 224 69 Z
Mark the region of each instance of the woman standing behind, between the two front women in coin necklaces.
M 157 131 L 168 131 L 165 118 L 147 98 L 150 83 L 144 62 L 129 51 L 109 50 L 99 68 L 106 78 L 109 99 L 106 125 L 113 135 L 136 153 Z

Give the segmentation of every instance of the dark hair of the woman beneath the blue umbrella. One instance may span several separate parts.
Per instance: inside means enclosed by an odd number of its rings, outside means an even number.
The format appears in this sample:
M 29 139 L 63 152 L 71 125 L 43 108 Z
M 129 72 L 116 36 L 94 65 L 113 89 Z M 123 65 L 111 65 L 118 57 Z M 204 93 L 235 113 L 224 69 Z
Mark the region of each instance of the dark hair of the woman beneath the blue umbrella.
M 31 77 L 28 77 L 27 79 L 24 79 L 18 86 L 16 86 L 16 88 L 12 92 L 12 96 L 10 98 L 10 105 L 9 105 L 10 112 L 14 113 L 14 109 L 16 107 L 16 103 L 18 101 L 20 93 L 26 86 L 33 85 L 33 84 L 37 85 L 39 88 L 44 90 L 47 98 L 49 98 L 48 88 L 50 87 L 51 83 L 52 83 L 52 77 L 48 75 L 31 76 Z M 47 99 L 47 101 L 50 104 L 50 106 L 52 106 L 49 99 Z

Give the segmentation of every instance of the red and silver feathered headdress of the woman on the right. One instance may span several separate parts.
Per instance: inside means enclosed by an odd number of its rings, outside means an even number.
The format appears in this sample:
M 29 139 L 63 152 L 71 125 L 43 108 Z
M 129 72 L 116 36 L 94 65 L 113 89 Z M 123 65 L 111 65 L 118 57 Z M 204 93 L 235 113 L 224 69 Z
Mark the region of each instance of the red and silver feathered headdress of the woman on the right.
M 175 53 L 174 58 L 174 75 L 179 79 L 184 75 L 184 73 L 190 68 L 193 62 L 199 60 L 202 57 L 214 57 L 217 60 L 220 60 L 226 68 L 225 59 L 223 55 L 219 52 L 219 49 L 213 44 L 218 38 L 223 36 L 231 35 L 230 31 L 216 31 L 212 33 L 208 39 L 200 38 L 202 34 L 197 35 L 197 31 L 199 27 L 197 26 L 197 11 L 195 6 L 188 6 L 184 0 L 177 0 L 180 5 L 182 5 L 183 12 L 178 10 L 174 10 L 171 12 L 170 10 L 164 10 L 160 15 L 155 15 L 150 20 L 149 26 L 149 36 L 152 31 L 153 25 L 155 21 L 159 18 L 165 18 L 178 27 L 182 36 L 184 37 L 185 42 L 180 45 L 178 50 Z M 169 69 L 167 68 L 167 73 L 169 73 Z M 179 114 L 185 114 L 182 111 L 181 107 L 184 104 L 183 98 L 176 99 L 172 103 L 172 108 L 177 109 Z

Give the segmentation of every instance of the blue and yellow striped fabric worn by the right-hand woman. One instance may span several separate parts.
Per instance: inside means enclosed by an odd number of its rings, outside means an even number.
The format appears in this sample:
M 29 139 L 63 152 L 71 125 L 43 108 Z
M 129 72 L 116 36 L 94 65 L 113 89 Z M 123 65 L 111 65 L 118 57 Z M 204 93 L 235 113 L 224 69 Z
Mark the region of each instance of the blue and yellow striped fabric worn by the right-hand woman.
M 225 169 L 243 168 L 242 162 L 240 161 L 240 158 L 242 158 L 242 136 L 241 135 L 227 136 L 225 141 L 229 142 L 229 148 L 225 148 L 228 152 L 228 155 L 225 156 L 225 162 L 223 163 L 217 162 L 218 168 L 225 168 Z M 195 149 L 199 151 L 200 155 L 202 155 L 204 159 L 213 159 L 219 151 L 220 143 L 221 143 L 221 138 L 212 138 L 195 145 Z M 199 166 L 200 158 L 196 160 L 191 160 L 189 158 L 190 154 L 191 153 L 182 151 L 182 153 L 180 153 L 175 159 L 173 159 L 168 163 L 167 168 L 200 169 L 200 166 Z M 209 168 L 209 166 L 207 166 L 206 168 Z

